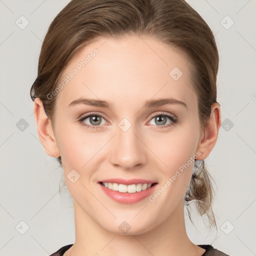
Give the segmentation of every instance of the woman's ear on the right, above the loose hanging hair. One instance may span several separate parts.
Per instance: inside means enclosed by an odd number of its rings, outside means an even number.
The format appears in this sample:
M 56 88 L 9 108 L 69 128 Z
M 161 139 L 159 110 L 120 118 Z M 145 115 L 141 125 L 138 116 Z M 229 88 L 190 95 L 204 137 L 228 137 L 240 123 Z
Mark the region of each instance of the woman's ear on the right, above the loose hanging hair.
M 220 107 L 218 103 L 213 103 L 211 105 L 210 118 L 204 125 L 202 136 L 200 137 L 197 146 L 197 151 L 200 151 L 201 154 L 196 158 L 196 160 L 203 160 L 209 155 L 216 144 L 220 124 Z

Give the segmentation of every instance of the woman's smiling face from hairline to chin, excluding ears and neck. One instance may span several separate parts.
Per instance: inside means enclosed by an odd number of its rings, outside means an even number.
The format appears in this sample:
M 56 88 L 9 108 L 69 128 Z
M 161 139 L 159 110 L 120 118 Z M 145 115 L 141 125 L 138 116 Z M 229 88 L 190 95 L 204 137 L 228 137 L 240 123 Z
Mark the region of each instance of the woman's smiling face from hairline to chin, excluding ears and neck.
M 138 234 L 170 218 L 183 205 L 193 159 L 200 155 L 187 59 L 158 40 L 141 38 L 86 45 L 68 64 L 60 79 L 68 75 L 68 82 L 56 94 L 54 136 L 66 186 L 84 214 L 115 233 L 123 221 Z M 94 105 L 71 103 L 81 98 Z M 156 184 L 142 191 L 142 199 L 135 192 L 130 201 L 115 200 L 99 183 L 111 178 Z

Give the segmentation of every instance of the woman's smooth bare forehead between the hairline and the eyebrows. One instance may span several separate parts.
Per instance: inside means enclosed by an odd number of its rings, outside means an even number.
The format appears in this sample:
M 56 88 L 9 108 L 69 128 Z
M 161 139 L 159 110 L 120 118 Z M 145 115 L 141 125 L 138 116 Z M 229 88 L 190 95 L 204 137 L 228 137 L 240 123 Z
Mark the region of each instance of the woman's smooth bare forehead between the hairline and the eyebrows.
M 151 37 L 98 38 L 67 65 L 57 101 L 66 107 L 84 96 L 130 105 L 169 96 L 196 104 L 186 63 L 180 50 Z

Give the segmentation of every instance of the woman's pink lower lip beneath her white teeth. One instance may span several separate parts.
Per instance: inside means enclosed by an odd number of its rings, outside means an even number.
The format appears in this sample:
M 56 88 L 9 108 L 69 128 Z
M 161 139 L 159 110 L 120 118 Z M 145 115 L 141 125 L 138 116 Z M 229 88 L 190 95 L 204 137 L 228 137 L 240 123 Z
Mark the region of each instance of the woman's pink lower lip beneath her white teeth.
M 106 195 L 111 197 L 113 200 L 120 203 L 124 203 L 124 204 L 135 203 L 144 199 L 145 197 L 149 196 L 153 192 L 155 186 L 157 185 L 157 183 L 155 183 L 153 186 L 150 186 L 145 190 L 141 190 L 135 193 L 127 193 L 127 192 L 123 193 L 123 192 L 114 191 L 112 189 L 106 188 L 101 183 L 98 183 L 98 184 Z

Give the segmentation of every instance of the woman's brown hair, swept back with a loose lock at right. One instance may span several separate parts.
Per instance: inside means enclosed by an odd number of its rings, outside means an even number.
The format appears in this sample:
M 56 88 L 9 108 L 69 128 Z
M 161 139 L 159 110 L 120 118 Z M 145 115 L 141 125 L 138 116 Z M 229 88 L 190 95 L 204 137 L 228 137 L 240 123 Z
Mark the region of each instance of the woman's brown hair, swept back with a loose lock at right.
M 71 0 L 48 28 L 41 46 L 38 74 L 30 89 L 32 100 L 42 100 L 53 129 L 56 97 L 49 99 L 47 95 L 57 87 L 74 54 L 97 37 L 117 39 L 132 33 L 158 39 L 187 57 L 200 124 L 204 127 L 211 104 L 217 103 L 218 51 L 211 29 L 185 0 Z M 62 166 L 60 156 L 57 160 Z M 195 201 L 199 214 L 206 214 L 210 226 L 216 226 L 210 179 L 204 161 L 196 160 L 184 202 L 188 205 Z

